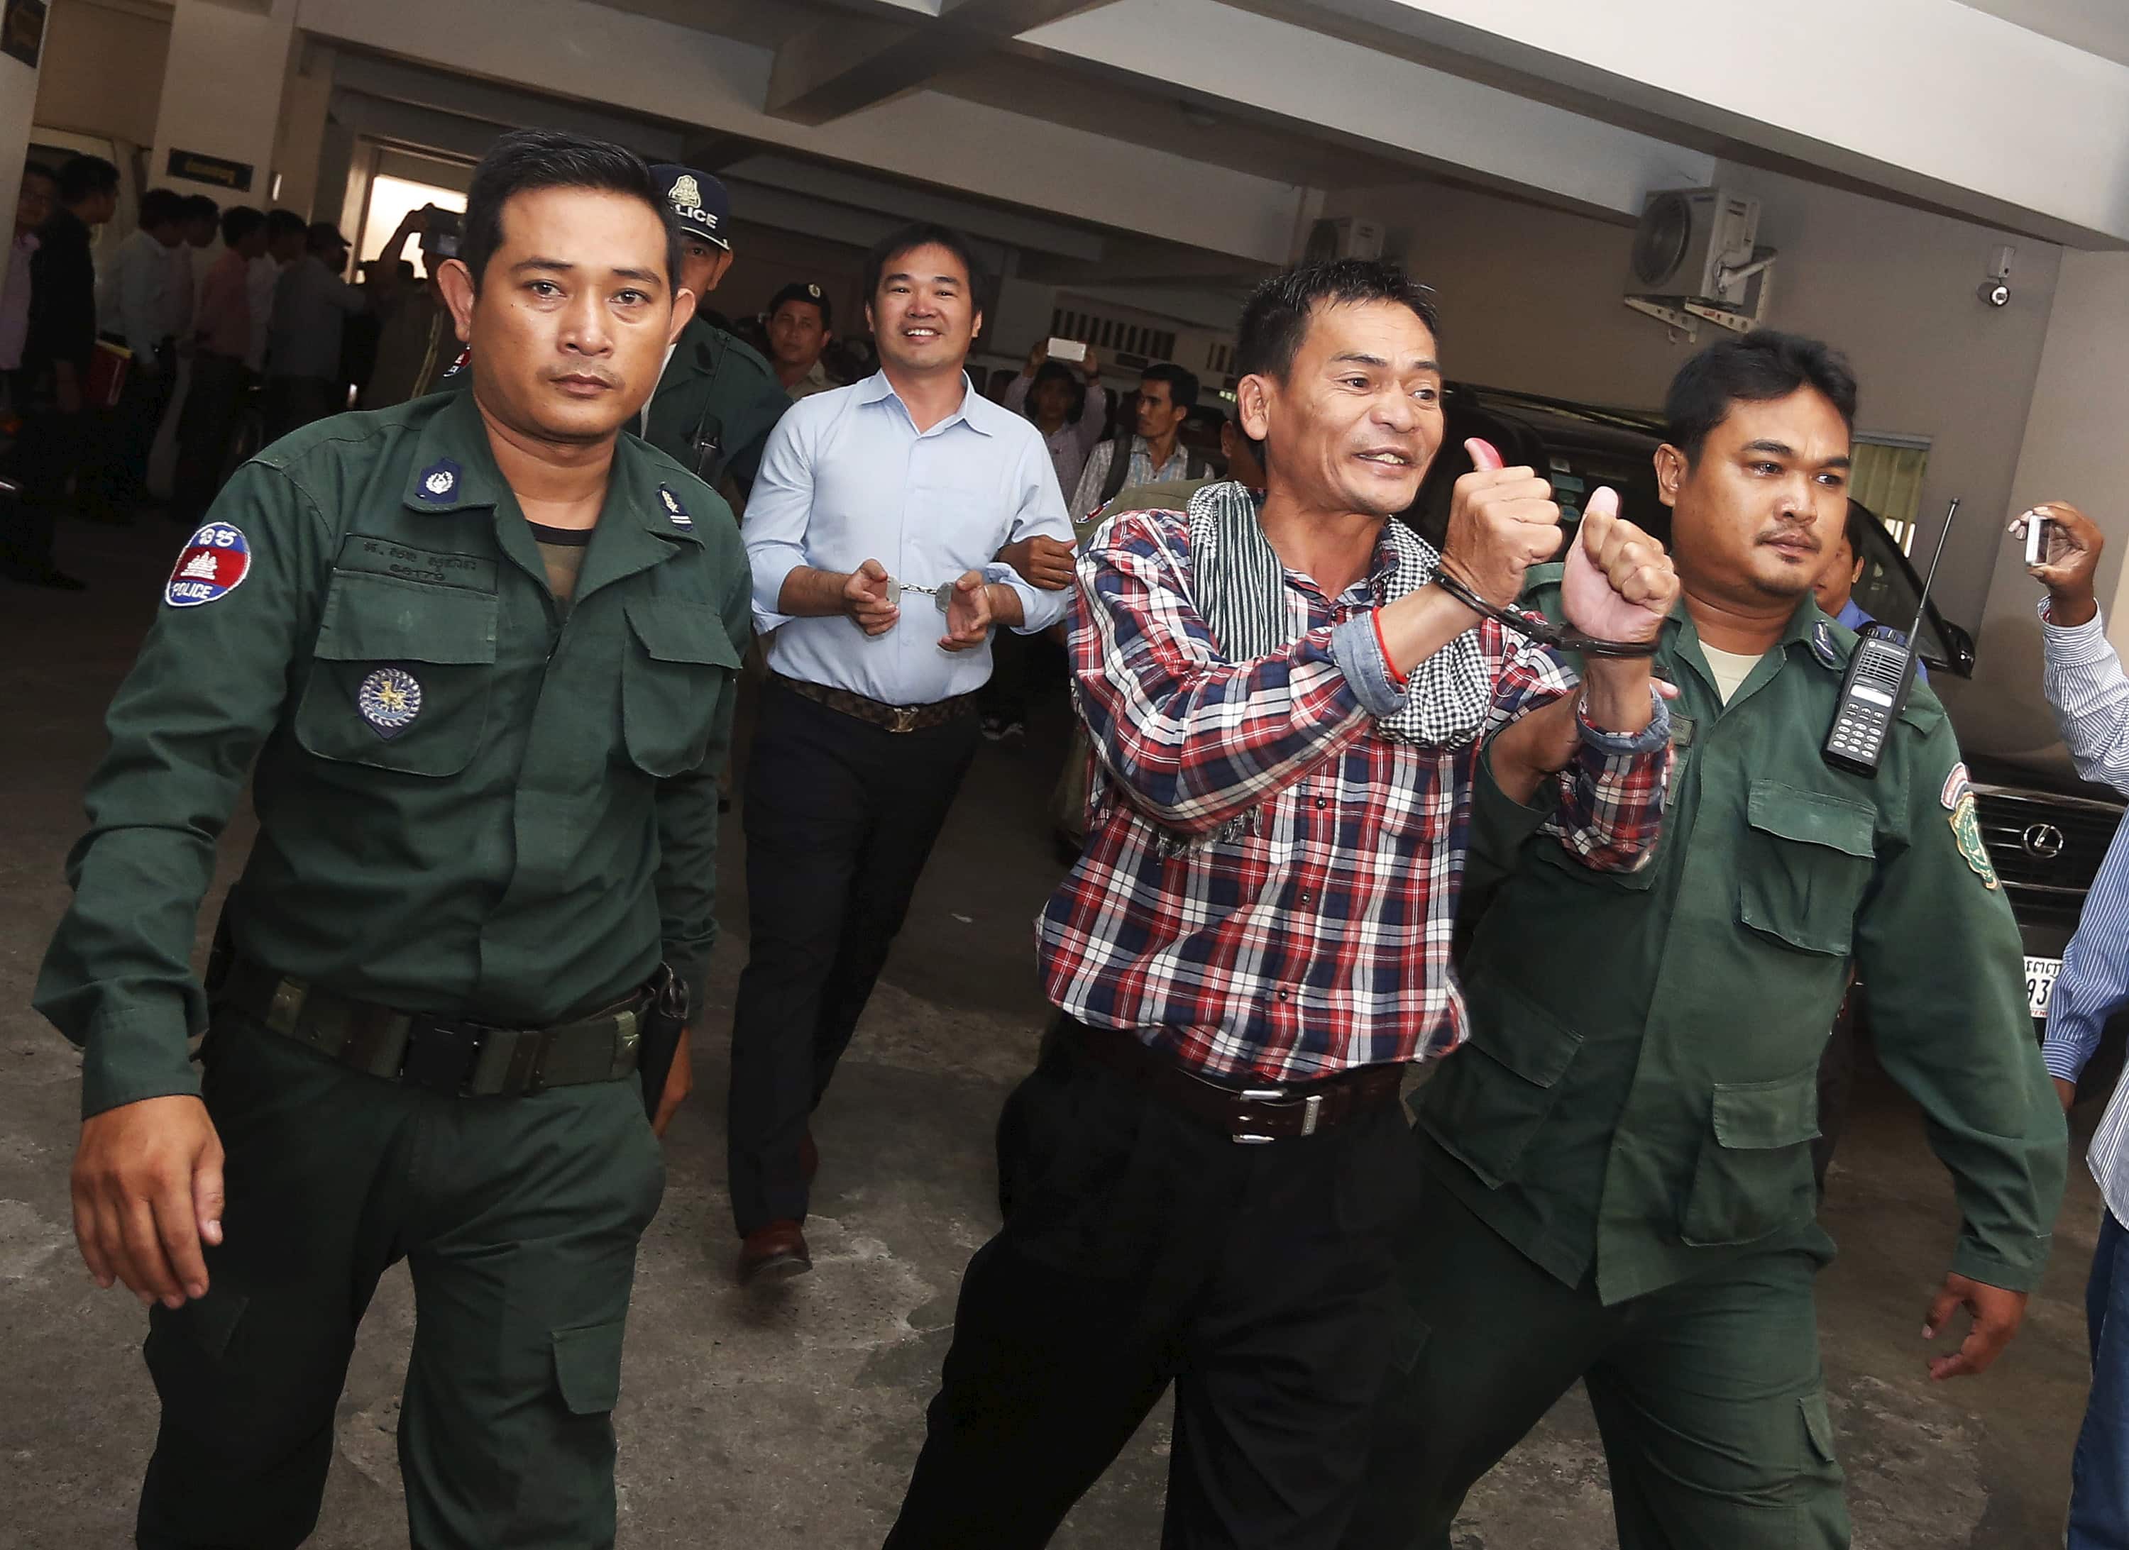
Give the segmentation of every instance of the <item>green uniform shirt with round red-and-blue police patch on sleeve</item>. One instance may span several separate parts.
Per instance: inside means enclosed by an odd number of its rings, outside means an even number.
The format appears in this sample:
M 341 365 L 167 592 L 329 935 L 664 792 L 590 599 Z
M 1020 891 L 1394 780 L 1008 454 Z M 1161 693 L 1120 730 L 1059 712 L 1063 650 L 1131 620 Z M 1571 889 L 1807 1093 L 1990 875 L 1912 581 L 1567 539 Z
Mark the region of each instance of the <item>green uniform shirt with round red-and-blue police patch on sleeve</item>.
M 83 1114 L 198 1092 L 189 956 L 253 771 L 236 947 L 405 1011 L 545 1026 L 660 954 L 703 1005 L 747 641 L 730 509 L 632 436 L 564 611 L 471 394 L 245 464 L 109 713 L 36 1007 Z

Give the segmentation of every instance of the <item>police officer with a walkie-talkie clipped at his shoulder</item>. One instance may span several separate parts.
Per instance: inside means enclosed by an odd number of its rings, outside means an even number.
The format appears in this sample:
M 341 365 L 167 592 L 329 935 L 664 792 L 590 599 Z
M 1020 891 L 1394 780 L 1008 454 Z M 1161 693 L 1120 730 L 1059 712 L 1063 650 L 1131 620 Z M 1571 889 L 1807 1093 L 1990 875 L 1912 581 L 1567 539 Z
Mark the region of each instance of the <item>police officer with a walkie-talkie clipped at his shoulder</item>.
M 1876 777 L 1820 758 L 1856 643 L 1812 598 L 1854 379 L 1761 332 L 1688 362 L 1665 409 L 1684 592 L 1656 658 L 1680 690 L 1663 839 L 1605 875 L 1524 843 L 1571 730 L 1548 747 L 1529 718 L 1482 760 L 1473 850 L 1512 871 L 1465 962 L 1471 1045 L 1418 1101 L 1416 1322 L 1354 1550 L 1448 1550 L 1465 1493 L 1575 1380 L 1622 1550 L 1848 1544 L 1810 1143 L 1850 958 L 1959 1197 L 1927 1329 L 1974 1318 L 1935 1378 L 2001 1352 L 2048 1254 L 2063 1114 L 1944 709 L 1916 683 Z M 1535 600 L 1558 615 L 1556 568 Z

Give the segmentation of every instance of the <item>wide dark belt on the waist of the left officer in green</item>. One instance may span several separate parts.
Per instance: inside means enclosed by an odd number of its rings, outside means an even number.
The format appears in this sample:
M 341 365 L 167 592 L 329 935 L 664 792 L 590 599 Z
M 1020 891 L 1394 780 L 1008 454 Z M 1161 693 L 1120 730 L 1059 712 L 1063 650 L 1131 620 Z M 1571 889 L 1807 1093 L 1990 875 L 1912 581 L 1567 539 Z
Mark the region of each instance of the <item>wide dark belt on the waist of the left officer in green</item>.
M 498 1028 L 356 1001 L 247 958 L 236 958 L 213 990 L 215 1003 L 345 1067 L 468 1099 L 620 1082 L 637 1069 L 641 1016 L 651 994 L 645 986 L 551 1028 Z

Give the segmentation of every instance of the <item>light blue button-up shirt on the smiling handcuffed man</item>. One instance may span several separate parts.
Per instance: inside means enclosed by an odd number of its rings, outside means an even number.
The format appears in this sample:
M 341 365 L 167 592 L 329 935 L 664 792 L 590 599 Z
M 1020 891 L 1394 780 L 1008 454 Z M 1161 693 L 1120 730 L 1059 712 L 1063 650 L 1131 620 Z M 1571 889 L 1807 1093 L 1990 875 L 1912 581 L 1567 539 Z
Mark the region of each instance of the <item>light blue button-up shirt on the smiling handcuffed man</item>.
M 1071 592 L 1041 592 L 992 556 L 1030 534 L 1071 543 L 1064 494 L 1041 432 L 990 402 L 962 377 L 960 409 L 918 430 L 886 373 L 801 398 L 769 434 L 747 496 L 754 628 L 769 666 L 886 705 L 933 705 L 979 690 L 990 643 L 947 652 L 945 613 L 903 596 L 901 622 L 864 634 L 849 615 L 801 620 L 777 611 L 798 566 L 856 571 L 879 560 L 896 581 L 945 586 L 981 571 L 1020 594 L 1020 634 L 1060 617 Z

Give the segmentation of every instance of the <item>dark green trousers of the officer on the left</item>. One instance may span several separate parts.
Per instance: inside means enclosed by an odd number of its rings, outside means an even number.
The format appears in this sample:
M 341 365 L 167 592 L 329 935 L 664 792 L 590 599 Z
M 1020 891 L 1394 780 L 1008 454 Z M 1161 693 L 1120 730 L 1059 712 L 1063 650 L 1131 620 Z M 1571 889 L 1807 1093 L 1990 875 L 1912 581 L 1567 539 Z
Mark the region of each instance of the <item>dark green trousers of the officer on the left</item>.
M 138 1544 L 309 1537 L 356 1324 L 409 1260 L 398 1452 L 419 1550 L 613 1544 L 613 1401 L 664 1162 L 634 1082 L 451 1099 L 217 1013 L 228 1152 L 209 1292 L 149 1316 L 162 1431 Z

